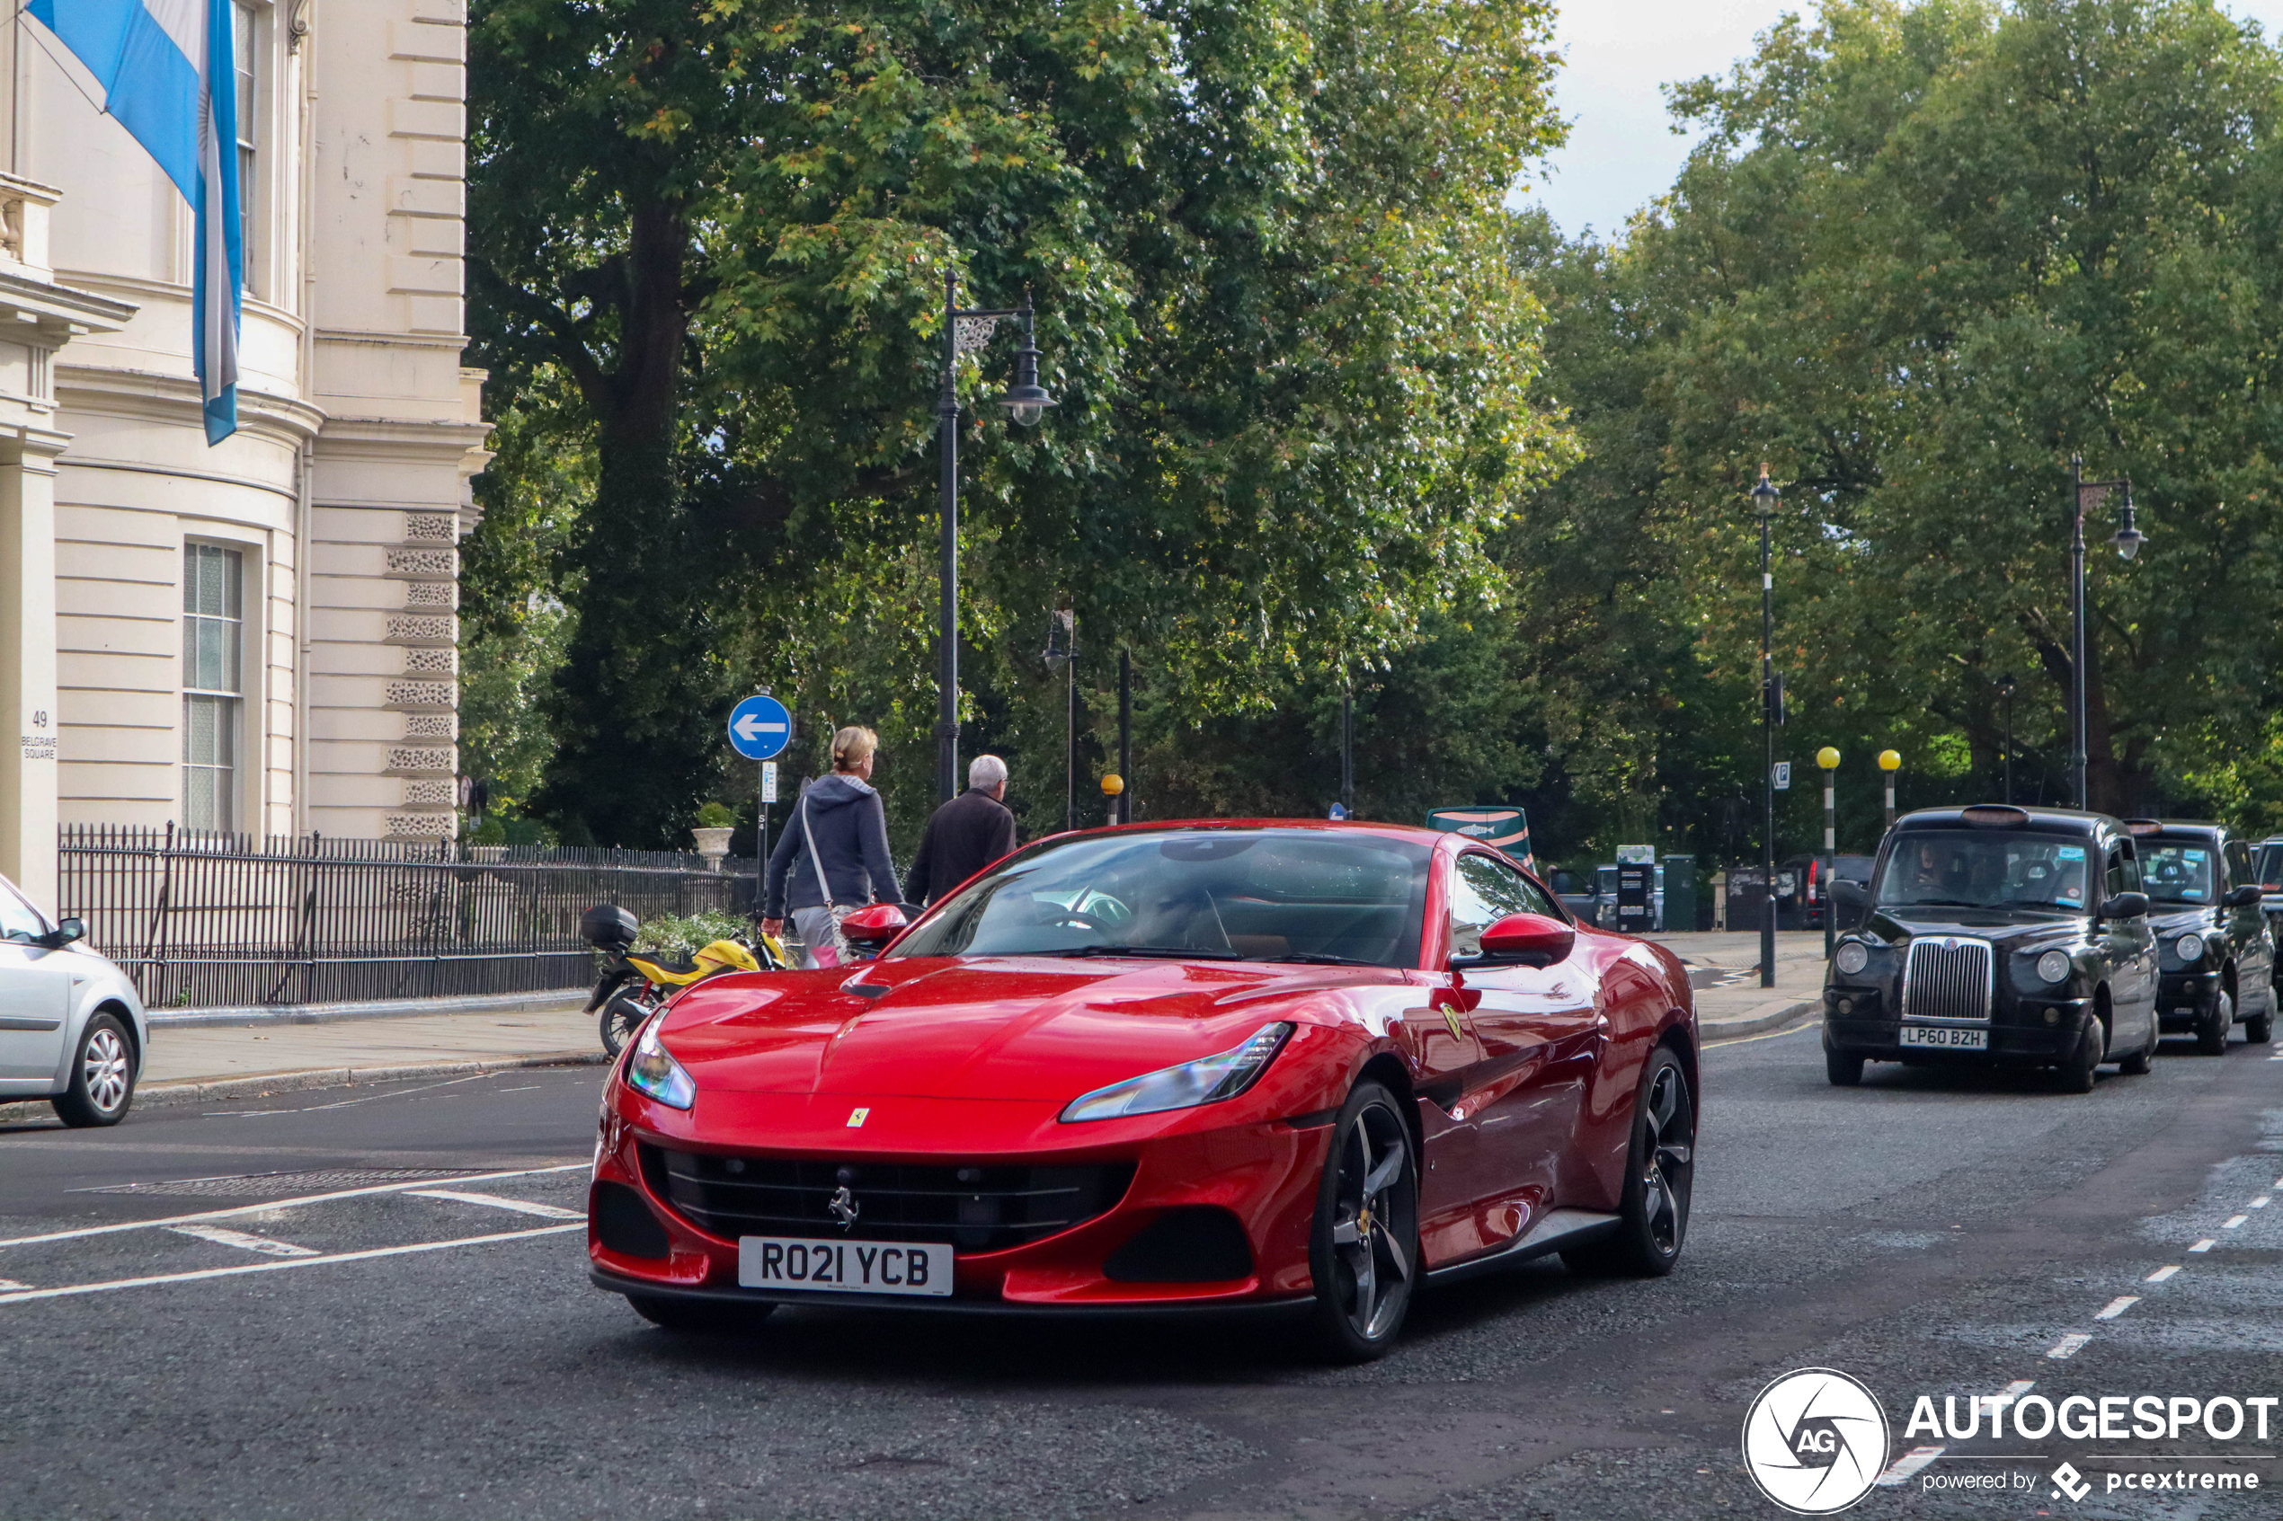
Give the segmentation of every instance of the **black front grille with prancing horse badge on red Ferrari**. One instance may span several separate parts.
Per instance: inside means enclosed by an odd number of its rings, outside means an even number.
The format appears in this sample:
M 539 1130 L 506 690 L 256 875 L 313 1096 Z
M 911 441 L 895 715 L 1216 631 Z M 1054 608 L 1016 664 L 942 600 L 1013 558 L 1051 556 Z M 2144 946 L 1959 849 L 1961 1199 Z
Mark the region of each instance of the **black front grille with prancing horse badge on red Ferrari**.
M 1075 1168 L 904 1165 L 810 1156 L 715 1156 L 642 1147 L 660 1199 L 701 1231 L 737 1236 L 849 1236 L 947 1241 L 1005 1252 L 1103 1215 L 1132 1184 L 1132 1163 Z M 856 1218 L 831 1211 L 849 1190 Z

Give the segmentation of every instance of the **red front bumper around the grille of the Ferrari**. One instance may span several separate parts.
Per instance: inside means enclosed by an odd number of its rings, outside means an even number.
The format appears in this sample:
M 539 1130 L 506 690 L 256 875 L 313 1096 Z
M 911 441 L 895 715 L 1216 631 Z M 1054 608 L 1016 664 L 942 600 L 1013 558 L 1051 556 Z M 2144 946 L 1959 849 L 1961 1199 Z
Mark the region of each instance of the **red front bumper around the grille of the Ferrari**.
M 724 1101 L 728 1099 L 728 1101 Z M 1228 1115 L 1210 1126 L 1205 1111 L 1176 1111 L 1144 1120 L 1089 1126 L 1055 1124 L 1050 1106 L 998 1101 L 895 1104 L 900 1129 L 856 1136 L 842 1126 L 847 1101 L 824 1101 L 831 1131 L 806 1111 L 815 1101 L 792 1095 L 721 1095 L 703 1131 L 680 1111 L 664 1111 L 616 1081 L 605 1101 L 596 1149 L 587 1227 L 589 1272 L 600 1288 L 660 1298 L 781 1304 L 872 1304 L 881 1309 L 970 1311 L 1142 1311 L 1208 1307 L 1288 1307 L 1308 1302 L 1308 1231 L 1324 1154 L 1329 1115 L 1256 1120 Z M 865 1126 L 872 1131 L 874 1126 Z M 838 1131 L 838 1133 L 836 1133 Z M 915 1145 L 920 1136 L 952 1136 L 952 1145 Z M 763 1145 L 760 1138 L 767 1138 Z M 1055 1145 L 1059 1142 L 1059 1145 Z M 712 1156 L 801 1156 L 879 1165 L 1066 1168 L 1132 1163 L 1123 1197 L 1103 1213 L 1052 1236 L 1005 1250 L 954 1250 L 952 1293 L 881 1295 L 833 1291 L 744 1288 L 737 1284 L 737 1241 L 712 1234 L 680 1213 L 644 1168 L 637 1147 L 667 1147 Z M 630 1254 L 605 1243 L 600 1190 L 630 1188 L 662 1231 L 660 1254 Z M 621 1195 L 623 1204 L 623 1195 Z M 1233 1215 L 1251 1250 L 1251 1272 L 1210 1282 L 1121 1282 L 1107 1272 L 1119 1247 L 1173 1211 L 1215 1209 Z M 817 1238 L 842 1231 L 820 1218 Z M 626 1234 L 616 1236 L 621 1245 Z M 863 1241 L 863 1227 L 849 1238 Z M 947 1241 L 950 1231 L 936 1236 Z

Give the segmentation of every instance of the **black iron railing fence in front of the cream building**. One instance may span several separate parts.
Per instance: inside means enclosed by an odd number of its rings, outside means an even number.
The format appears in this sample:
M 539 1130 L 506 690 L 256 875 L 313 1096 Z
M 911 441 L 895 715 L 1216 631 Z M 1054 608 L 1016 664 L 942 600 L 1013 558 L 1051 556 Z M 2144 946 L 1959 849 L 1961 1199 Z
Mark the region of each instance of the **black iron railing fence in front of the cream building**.
M 751 912 L 753 862 L 64 825 L 57 912 L 87 921 L 153 1012 L 546 992 L 594 978 L 578 919 Z

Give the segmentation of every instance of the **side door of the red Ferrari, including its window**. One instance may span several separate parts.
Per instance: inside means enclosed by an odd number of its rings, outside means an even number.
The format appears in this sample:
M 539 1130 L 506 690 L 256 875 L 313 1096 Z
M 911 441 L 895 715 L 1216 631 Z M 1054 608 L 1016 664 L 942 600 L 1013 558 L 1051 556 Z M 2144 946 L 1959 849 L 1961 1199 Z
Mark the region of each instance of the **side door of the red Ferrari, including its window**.
M 1482 930 L 1507 914 L 1564 917 L 1536 882 L 1479 851 L 1452 862 L 1450 905 L 1452 955 L 1477 955 Z M 1461 967 L 1452 981 L 1482 1042 L 1459 1101 L 1475 1124 L 1477 1204 L 1493 1227 L 1518 1229 L 1550 1204 L 1578 1129 L 1605 1031 L 1600 981 L 1578 953 L 1550 967 Z

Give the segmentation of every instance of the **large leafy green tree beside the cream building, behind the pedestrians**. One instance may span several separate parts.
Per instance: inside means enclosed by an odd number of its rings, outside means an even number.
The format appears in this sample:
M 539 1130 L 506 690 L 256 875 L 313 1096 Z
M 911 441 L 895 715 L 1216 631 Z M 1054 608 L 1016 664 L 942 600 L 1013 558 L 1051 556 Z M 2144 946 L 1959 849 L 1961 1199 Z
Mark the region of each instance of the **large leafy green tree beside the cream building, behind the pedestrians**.
M 1005 331 L 961 363 L 968 721 L 1039 791 L 1057 602 L 1210 716 L 1495 595 L 1564 454 L 1500 212 L 1557 130 L 1548 16 L 479 0 L 473 322 L 495 392 L 566 379 L 596 461 L 541 807 L 676 835 L 753 680 L 808 734 L 877 723 L 925 803 L 947 269 L 1036 294 L 1062 399 L 1014 433 L 977 415 Z

